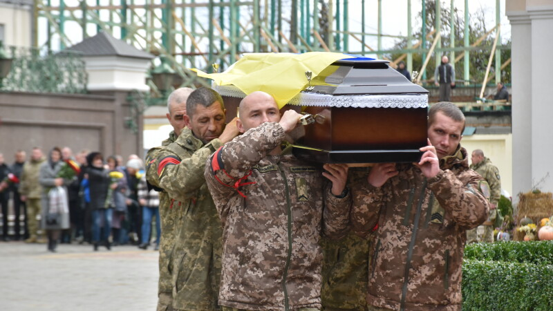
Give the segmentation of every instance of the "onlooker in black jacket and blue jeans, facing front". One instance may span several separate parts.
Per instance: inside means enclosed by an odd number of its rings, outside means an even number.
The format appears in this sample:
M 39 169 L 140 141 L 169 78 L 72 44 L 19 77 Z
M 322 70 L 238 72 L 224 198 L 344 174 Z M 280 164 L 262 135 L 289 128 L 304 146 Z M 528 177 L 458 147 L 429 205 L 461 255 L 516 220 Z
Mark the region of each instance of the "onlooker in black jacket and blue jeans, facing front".
M 107 249 L 111 249 L 109 234 L 111 232 L 113 208 L 106 204 L 106 200 L 108 188 L 115 188 L 117 185 L 110 185 L 109 170 L 104 167 L 102 153 L 89 153 L 86 156 L 86 162 L 88 162 L 86 178 L 88 179 L 88 189 L 90 189 L 90 206 L 93 221 L 92 243 L 94 250 L 98 250 L 100 243 L 104 243 Z

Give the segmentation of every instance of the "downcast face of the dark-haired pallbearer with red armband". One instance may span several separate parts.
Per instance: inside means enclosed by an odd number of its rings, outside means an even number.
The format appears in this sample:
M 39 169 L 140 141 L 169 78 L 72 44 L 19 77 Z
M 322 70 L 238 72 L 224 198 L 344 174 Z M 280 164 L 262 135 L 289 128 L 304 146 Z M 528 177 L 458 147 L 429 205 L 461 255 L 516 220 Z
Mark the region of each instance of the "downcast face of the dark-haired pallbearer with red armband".
M 185 122 L 186 126 L 194 133 L 194 136 L 207 144 L 207 142 L 218 138 L 223 133 L 225 111 L 223 111 L 221 103 L 218 101 L 207 107 L 197 104 L 191 118 L 185 115 Z

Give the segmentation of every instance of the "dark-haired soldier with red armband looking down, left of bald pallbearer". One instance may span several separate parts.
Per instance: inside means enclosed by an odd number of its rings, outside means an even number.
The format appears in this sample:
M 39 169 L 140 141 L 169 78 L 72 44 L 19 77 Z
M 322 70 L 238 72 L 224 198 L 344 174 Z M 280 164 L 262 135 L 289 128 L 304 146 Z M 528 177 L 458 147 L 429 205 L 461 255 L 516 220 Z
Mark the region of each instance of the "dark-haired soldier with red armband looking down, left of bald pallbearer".
M 223 99 L 198 88 L 187 99 L 186 128 L 177 140 L 149 160 L 157 178 L 152 184 L 171 198 L 175 242 L 170 252 L 175 310 L 218 310 L 221 278 L 221 220 L 203 178 L 205 160 L 237 134 L 236 122 L 225 127 Z M 224 131 L 223 131 L 224 128 Z M 150 157 L 151 158 L 151 157 Z M 156 179 L 156 180 L 154 180 Z

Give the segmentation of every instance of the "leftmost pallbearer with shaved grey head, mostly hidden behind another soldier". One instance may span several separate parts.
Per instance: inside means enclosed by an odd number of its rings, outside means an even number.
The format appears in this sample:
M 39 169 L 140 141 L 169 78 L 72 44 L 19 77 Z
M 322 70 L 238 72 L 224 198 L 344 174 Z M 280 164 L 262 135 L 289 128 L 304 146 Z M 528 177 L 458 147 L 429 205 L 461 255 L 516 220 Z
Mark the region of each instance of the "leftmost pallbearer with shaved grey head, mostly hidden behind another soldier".
M 172 263 L 171 253 L 175 243 L 174 218 L 177 209 L 171 209 L 171 199 L 167 192 L 159 188 L 157 173 L 157 154 L 160 149 L 174 142 L 180 131 L 185 128 L 186 100 L 190 93 L 194 91 L 191 88 L 178 88 L 167 98 L 167 120 L 173 126 L 173 131 L 169 133 L 169 138 L 161 143 L 160 147 L 152 148 L 146 156 L 146 178 L 148 186 L 160 191 L 160 219 L 161 219 L 161 237 L 160 237 L 160 258 L 159 270 L 160 279 L 158 281 L 158 311 L 173 310 L 173 276 L 171 276 Z

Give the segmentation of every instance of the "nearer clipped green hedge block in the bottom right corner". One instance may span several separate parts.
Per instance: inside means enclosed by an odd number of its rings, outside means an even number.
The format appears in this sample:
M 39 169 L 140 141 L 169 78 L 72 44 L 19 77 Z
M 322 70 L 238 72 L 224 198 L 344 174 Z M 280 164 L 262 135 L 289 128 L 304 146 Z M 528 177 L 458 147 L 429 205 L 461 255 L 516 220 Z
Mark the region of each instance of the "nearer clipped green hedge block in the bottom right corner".
M 551 311 L 553 265 L 466 259 L 462 298 L 463 311 Z

